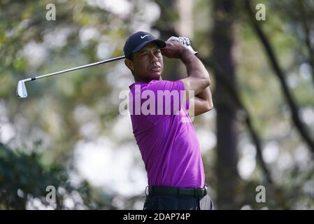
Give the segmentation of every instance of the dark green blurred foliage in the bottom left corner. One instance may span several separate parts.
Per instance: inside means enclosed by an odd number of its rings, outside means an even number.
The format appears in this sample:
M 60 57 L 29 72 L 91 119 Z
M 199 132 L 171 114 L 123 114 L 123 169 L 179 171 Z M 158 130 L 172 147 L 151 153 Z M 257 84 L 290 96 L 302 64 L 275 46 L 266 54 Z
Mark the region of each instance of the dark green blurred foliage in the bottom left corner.
M 50 197 L 48 186 L 55 188 L 55 197 Z M 101 205 L 92 200 L 88 183 L 79 188 L 71 185 L 66 169 L 47 167 L 40 154 L 13 151 L 1 143 L 0 189 L 0 209 L 96 209 Z

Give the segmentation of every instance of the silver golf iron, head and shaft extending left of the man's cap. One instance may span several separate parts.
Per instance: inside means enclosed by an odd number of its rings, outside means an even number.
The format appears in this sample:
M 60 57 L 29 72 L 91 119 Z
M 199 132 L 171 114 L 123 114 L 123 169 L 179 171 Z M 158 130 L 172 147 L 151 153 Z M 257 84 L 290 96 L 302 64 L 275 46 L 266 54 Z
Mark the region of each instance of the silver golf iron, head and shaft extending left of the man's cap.
M 105 64 L 107 62 L 114 62 L 114 61 L 117 61 L 117 60 L 120 60 L 120 59 L 124 59 L 124 58 L 125 58 L 125 56 L 114 57 L 114 58 L 106 59 L 106 60 L 101 61 L 101 62 L 94 62 L 92 64 L 85 64 L 85 65 L 78 66 L 78 67 L 75 67 L 75 68 L 72 68 L 72 69 L 65 69 L 65 70 L 62 70 L 62 71 L 56 71 L 54 73 L 48 73 L 48 74 L 45 74 L 43 76 L 36 76 L 36 77 L 33 77 L 33 78 L 26 78 L 26 79 L 19 80 L 19 82 L 17 83 L 16 95 L 17 95 L 17 97 L 20 97 L 20 98 L 26 98 L 27 97 L 27 90 L 26 90 L 26 87 L 25 87 L 25 83 L 26 82 L 29 82 L 29 81 L 32 81 L 32 80 L 36 80 L 36 79 L 39 79 L 39 78 L 45 78 L 45 77 L 49 77 L 49 76 L 59 75 L 61 73 L 66 73 L 66 72 L 69 72 L 69 71 L 75 71 L 75 70 L 78 70 L 78 69 L 84 69 L 84 68 L 88 68 L 90 66 L 96 66 L 96 65 L 99 65 L 99 64 Z

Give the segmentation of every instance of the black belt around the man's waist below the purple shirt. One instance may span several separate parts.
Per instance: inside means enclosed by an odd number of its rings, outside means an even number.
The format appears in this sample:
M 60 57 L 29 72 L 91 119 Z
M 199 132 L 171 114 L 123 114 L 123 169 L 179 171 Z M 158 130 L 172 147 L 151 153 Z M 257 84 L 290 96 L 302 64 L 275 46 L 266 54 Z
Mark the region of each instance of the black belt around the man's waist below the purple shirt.
M 150 196 L 193 196 L 202 198 L 207 195 L 208 186 L 204 188 L 172 188 L 164 186 L 148 186 L 148 195 Z

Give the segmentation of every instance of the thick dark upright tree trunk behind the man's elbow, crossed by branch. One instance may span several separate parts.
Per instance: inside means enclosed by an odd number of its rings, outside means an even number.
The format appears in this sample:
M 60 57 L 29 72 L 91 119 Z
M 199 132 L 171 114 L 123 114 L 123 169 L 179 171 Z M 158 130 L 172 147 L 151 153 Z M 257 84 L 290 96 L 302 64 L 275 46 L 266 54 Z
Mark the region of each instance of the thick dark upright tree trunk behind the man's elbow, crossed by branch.
M 213 55 L 220 64 L 227 80 L 236 87 L 234 50 L 234 1 L 213 1 Z M 215 88 L 217 102 L 217 207 L 236 209 L 235 197 L 238 181 L 236 152 L 236 105 L 221 83 Z

